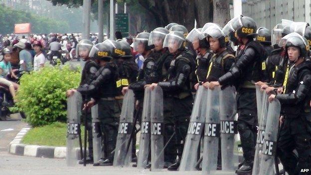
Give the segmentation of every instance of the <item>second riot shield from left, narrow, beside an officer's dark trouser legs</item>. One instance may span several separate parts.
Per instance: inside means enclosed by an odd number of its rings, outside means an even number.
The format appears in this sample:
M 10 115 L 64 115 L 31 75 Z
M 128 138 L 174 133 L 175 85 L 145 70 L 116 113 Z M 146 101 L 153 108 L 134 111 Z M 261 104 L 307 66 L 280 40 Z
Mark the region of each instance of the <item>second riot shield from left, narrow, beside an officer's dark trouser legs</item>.
M 98 105 L 91 109 L 92 111 L 92 133 L 93 133 L 93 162 L 97 162 L 102 158 L 102 132 L 98 119 Z

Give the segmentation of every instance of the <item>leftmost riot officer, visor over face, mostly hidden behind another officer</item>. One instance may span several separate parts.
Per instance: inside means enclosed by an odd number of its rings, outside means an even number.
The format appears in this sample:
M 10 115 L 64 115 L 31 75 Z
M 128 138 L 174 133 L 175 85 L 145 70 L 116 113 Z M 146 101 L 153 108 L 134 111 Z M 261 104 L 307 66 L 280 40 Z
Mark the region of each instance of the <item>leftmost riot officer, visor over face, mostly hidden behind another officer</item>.
M 80 82 L 80 87 L 84 86 L 85 84 L 90 84 L 95 78 L 95 73 L 97 72 L 99 65 L 96 63 L 95 60 L 89 57 L 89 52 L 93 46 L 93 43 L 88 39 L 82 39 L 77 44 L 77 55 L 80 56 L 84 61 L 85 65 L 82 70 L 82 77 Z M 70 89 L 67 91 L 67 96 L 71 96 L 75 90 Z M 83 101 L 85 100 L 85 96 L 83 97 Z M 89 156 L 86 158 L 87 164 L 93 163 L 93 141 L 92 141 L 92 117 L 91 112 L 87 112 L 87 141 L 88 141 L 88 149 L 89 149 Z M 83 160 L 79 161 L 79 164 L 83 164 Z

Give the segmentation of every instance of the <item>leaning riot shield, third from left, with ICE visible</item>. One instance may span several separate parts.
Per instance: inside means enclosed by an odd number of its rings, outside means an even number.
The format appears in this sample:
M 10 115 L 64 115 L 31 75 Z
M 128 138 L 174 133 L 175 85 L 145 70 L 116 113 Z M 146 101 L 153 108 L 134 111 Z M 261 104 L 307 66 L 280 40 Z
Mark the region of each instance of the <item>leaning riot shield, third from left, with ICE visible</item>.
M 123 105 L 120 115 L 117 143 L 114 155 L 114 167 L 128 167 L 132 160 L 132 142 L 131 134 L 133 131 L 134 120 L 134 92 L 129 90 L 123 99 Z M 127 146 L 130 144 L 130 148 Z

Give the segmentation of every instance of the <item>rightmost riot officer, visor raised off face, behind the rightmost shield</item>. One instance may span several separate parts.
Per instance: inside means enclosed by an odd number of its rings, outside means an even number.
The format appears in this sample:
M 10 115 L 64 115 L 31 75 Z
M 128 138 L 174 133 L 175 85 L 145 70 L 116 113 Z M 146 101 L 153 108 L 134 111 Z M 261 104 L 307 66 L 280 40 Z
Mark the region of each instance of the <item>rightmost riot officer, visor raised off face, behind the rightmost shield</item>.
M 306 60 L 309 43 L 298 33 L 291 33 L 285 49 L 293 63 L 289 79 L 277 95 L 270 95 L 269 101 L 278 99 L 283 113 L 277 155 L 289 175 L 301 175 L 301 170 L 311 167 L 311 61 Z M 298 152 L 298 158 L 293 153 L 294 149 Z

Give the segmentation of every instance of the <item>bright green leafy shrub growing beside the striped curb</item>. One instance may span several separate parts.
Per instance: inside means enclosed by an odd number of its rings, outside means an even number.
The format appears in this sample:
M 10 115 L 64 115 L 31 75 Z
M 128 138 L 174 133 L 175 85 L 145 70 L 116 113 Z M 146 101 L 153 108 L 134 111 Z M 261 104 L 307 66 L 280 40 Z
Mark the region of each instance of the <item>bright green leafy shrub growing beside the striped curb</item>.
M 66 121 L 66 90 L 78 87 L 80 77 L 80 73 L 72 71 L 68 65 L 44 67 L 24 74 L 13 110 L 23 111 L 26 121 L 34 127 Z

